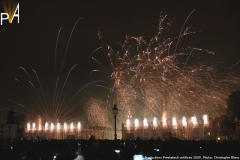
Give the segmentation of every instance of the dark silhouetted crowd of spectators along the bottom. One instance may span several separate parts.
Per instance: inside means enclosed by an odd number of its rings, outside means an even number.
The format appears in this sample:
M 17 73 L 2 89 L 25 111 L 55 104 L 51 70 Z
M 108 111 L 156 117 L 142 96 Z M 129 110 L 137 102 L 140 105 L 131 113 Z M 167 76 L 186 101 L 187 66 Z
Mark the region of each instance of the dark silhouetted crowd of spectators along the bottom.
M 163 156 L 236 156 L 240 141 L 0 139 L 1 160 L 133 160 Z

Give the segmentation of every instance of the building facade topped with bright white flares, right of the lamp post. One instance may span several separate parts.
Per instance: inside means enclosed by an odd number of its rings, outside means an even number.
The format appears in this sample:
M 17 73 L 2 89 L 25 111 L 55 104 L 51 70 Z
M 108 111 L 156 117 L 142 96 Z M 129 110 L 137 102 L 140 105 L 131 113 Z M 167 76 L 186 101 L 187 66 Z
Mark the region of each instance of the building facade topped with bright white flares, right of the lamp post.
M 134 123 L 131 123 L 134 122 Z M 171 120 L 163 117 L 161 120 L 153 118 L 152 122 L 143 119 L 140 123 L 138 119 L 134 121 L 127 120 L 126 124 L 122 124 L 122 138 L 127 139 L 172 139 L 181 140 L 208 140 L 215 139 L 213 124 L 209 121 L 208 116 L 204 115 L 202 119 L 195 116 L 182 120 L 172 118 Z

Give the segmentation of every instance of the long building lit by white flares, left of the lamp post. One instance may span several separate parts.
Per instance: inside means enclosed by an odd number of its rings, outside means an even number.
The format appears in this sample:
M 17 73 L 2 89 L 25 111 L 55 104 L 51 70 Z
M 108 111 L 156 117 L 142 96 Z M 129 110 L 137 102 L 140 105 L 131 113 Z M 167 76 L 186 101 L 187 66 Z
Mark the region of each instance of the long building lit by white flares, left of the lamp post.
M 113 139 L 114 131 L 112 128 L 99 126 L 81 126 L 81 123 L 45 123 L 36 125 L 35 123 L 28 123 L 25 132 L 25 138 L 49 138 L 49 139 L 90 139 L 94 136 L 95 139 Z M 122 134 L 117 130 L 117 138 L 121 139 Z

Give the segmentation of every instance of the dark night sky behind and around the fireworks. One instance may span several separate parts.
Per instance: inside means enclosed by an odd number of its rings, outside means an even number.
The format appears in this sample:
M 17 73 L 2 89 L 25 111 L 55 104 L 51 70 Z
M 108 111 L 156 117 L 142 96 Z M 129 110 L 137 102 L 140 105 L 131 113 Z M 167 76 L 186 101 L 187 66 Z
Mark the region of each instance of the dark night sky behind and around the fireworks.
M 20 23 L 13 20 L 0 26 L 0 108 L 14 108 L 26 111 L 9 100 L 35 109 L 40 105 L 38 95 L 31 87 L 24 67 L 32 78 L 39 94 L 41 88 L 32 71 L 36 70 L 51 106 L 57 76 L 60 74 L 69 35 L 76 21 L 63 65 L 62 86 L 71 67 L 78 64 L 70 74 L 63 93 L 66 102 L 84 85 L 106 77 L 104 73 L 89 76 L 92 69 L 100 69 L 88 55 L 100 47 L 98 31 L 105 35 L 108 45 L 119 49 L 117 42 L 123 43 L 125 35 L 143 36 L 149 39 L 158 29 L 160 12 L 166 12 L 167 21 L 173 21 L 173 34 L 177 36 L 188 15 L 196 9 L 186 23 L 192 31 L 201 31 L 185 44 L 212 50 L 216 60 L 225 62 L 226 67 L 240 61 L 240 3 L 238 0 L 156 0 L 156 1 L 88 1 L 88 0 L 20 0 Z M 1 5 L 0 12 L 4 12 Z M 55 66 L 55 47 L 59 29 L 59 39 Z M 102 50 L 94 56 L 101 62 L 109 63 Z M 105 64 L 109 66 L 108 64 Z M 240 70 L 240 64 L 234 67 Z M 17 78 L 20 82 L 18 82 Z M 83 114 L 83 104 L 89 97 L 106 100 L 107 91 L 91 85 L 73 100 L 72 105 L 81 102 L 74 110 Z M 27 111 L 26 111 L 27 112 Z M 0 111 L 0 122 L 5 123 L 7 111 Z

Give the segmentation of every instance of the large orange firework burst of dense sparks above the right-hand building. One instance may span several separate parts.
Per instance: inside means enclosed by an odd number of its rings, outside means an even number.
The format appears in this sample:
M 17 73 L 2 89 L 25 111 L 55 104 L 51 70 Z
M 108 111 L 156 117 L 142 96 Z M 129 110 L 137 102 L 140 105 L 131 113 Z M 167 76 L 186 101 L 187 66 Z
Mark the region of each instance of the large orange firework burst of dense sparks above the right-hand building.
M 110 75 L 114 82 L 113 86 L 109 87 L 111 88 L 107 100 L 109 107 L 114 101 L 117 102 L 122 114 L 126 114 L 132 108 L 138 108 L 138 111 L 143 110 L 143 113 L 135 111 L 132 114 L 147 116 L 154 113 L 159 118 L 164 112 L 174 116 L 207 113 L 211 117 L 220 116 L 225 112 L 224 99 L 234 87 L 240 87 L 237 83 L 240 78 L 231 74 L 231 78 L 227 76 L 217 78 L 217 68 L 209 69 L 208 66 L 213 67 L 213 64 L 208 64 L 208 61 L 186 65 L 193 50 L 213 54 L 211 51 L 195 47 L 177 49 L 177 43 L 175 53 L 170 54 L 170 47 L 175 39 L 179 42 L 183 36 L 196 33 L 189 32 L 190 27 L 183 32 L 193 12 L 194 10 L 185 20 L 178 37 L 167 39 L 161 37 L 166 18 L 166 16 L 161 16 L 159 32 L 149 44 L 146 44 L 145 48 L 141 48 L 140 45 L 139 40 L 146 42 L 142 37 L 127 36 L 123 44 L 125 48 L 122 51 L 126 50 L 122 57 L 116 59 L 112 50 L 109 50 L 108 56 L 112 65 Z M 129 39 L 136 42 L 135 48 L 130 49 L 132 45 L 129 44 Z M 133 52 L 130 52 L 131 50 Z M 187 56 L 185 63 L 179 62 L 177 59 L 179 55 Z M 94 60 L 100 64 L 96 59 Z M 118 63 L 118 60 L 121 61 Z M 182 74 L 183 71 L 185 74 Z

